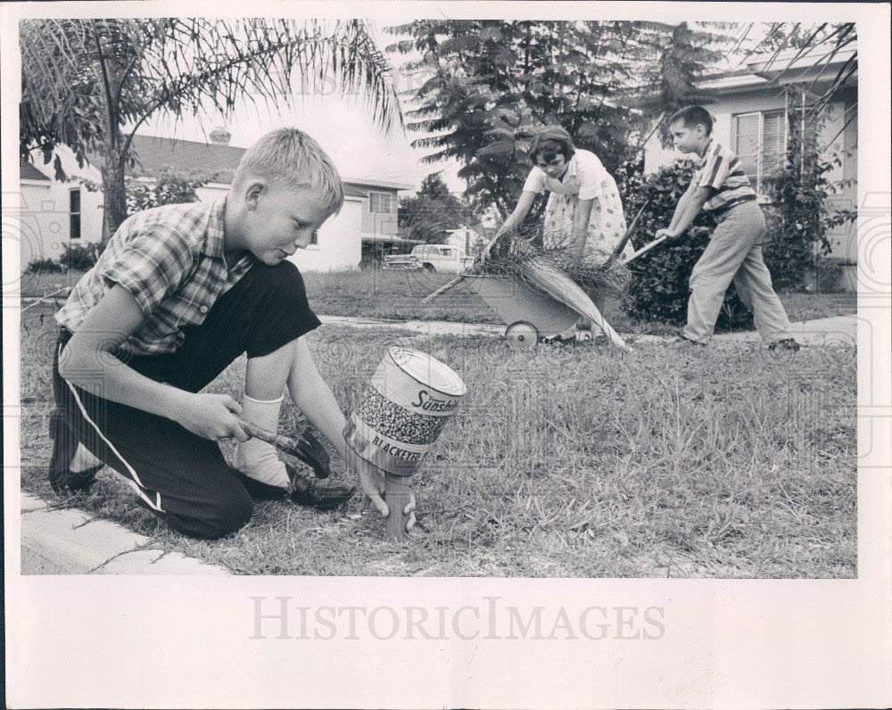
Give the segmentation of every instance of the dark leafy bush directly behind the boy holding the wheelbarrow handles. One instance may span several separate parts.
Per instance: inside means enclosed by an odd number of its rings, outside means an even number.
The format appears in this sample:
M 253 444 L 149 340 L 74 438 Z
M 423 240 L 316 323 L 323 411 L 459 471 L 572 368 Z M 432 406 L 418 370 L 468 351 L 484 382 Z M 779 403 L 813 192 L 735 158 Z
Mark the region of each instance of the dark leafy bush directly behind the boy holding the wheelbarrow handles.
M 636 249 L 653 241 L 657 229 L 669 226 L 675 205 L 694 172 L 694 163 L 690 160 L 676 161 L 648 176 L 642 175 L 642 167 L 640 162 L 626 164 L 618 176 L 630 225 L 641 207 L 647 205 L 632 234 Z M 664 242 L 632 261 L 629 265 L 632 282 L 624 302 L 624 308 L 632 318 L 677 326 L 686 322 L 690 272 L 706 249 L 713 227 L 714 220 L 701 211 L 681 239 Z M 716 330 L 749 327 L 752 327 L 752 314 L 731 285 Z

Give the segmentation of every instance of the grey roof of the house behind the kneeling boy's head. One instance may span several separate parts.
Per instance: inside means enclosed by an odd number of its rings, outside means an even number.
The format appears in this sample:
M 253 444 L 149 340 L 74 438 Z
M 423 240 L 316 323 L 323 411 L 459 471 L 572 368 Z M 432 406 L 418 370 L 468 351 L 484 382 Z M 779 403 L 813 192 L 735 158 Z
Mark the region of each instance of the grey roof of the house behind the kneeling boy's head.
M 186 174 L 214 176 L 211 182 L 229 185 L 245 149 L 234 145 L 136 135 L 133 136 L 133 151 L 138 163 L 130 172 L 136 177 L 158 175 L 165 168 L 174 168 Z M 344 193 L 349 197 L 368 197 L 369 188 L 406 190 L 410 187 L 373 178 L 350 178 L 343 182 Z

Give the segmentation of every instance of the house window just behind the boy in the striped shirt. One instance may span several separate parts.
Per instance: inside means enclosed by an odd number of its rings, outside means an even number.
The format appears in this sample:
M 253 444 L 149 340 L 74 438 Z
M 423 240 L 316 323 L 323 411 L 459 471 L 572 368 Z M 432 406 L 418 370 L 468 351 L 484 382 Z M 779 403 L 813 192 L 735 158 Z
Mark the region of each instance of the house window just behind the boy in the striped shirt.
M 783 111 L 738 113 L 731 121 L 731 146 L 758 194 L 765 178 L 783 167 L 787 120 Z

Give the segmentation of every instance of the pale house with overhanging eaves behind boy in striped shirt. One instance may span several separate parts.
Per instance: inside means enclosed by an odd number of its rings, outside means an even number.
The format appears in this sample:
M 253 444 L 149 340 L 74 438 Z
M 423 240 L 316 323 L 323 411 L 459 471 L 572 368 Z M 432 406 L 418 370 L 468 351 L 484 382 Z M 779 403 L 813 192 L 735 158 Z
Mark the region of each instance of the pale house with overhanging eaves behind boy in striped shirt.
M 714 95 L 714 103 L 706 104 L 715 123 L 714 136 L 738 154 L 760 202 L 771 202 L 766 177 L 783 166 L 789 139 L 789 115 L 806 110 L 836 78 L 854 50 L 830 54 L 827 48 L 815 48 L 795 59 L 796 53 L 756 56 L 744 70 L 709 77 L 698 84 Z M 795 59 L 795 61 L 794 61 Z M 807 114 L 805 114 L 807 116 Z M 825 160 L 835 156 L 838 164 L 824 177 L 838 184 L 838 192 L 827 198 L 828 210 L 855 211 L 857 206 L 858 172 L 858 87 L 857 72 L 847 80 L 822 111 L 819 120 L 803 117 L 806 131 L 810 128 L 818 150 Z M 645 172 L 671 164 L 681 153 L 667 150 L 654 137 L 645 148 Z M 855 291 L 857 284 L 857 228 L 848 222 L 827 233 L 830 253 L 826 261 L 842 270 L 840 286 Z

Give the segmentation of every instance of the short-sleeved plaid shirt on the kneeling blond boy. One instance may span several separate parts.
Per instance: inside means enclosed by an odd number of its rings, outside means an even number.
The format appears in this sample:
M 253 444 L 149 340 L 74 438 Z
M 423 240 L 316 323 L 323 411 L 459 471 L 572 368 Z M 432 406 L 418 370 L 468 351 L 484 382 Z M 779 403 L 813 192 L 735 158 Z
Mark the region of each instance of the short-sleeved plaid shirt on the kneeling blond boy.
M 251 268 L 243 257 L 227 269 L 223 255 L 226 202 L 156 207 L 121 224 L 94 268 L 78 281 L 55 319 L 72 333 L 112 285 L 124 286 L 145 321 L 123 343 L 135 355 L 176 351 L 183 326 L 200 325 L 214 301 Z

